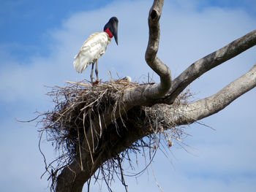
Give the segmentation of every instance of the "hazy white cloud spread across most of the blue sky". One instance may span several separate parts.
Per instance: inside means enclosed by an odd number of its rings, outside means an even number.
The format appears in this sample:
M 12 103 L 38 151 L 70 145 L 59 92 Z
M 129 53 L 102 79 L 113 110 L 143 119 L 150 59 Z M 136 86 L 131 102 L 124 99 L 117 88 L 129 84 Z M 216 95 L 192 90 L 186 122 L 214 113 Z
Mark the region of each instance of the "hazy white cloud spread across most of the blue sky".
M 209 7 L 198 12 L 194 1 L 190 4 L 188 1 L 178 2 L 180 1 L 165 2 L 159 48 L 159 57 L 170 67 L 174 77 L 192 62 L 252 31 L 256 26 L 255 18 L 250 18 L 241 9 Z M 50 106 L 44 96 L 46 90 L 43 85 L 64 85 L 64 80 L 82 80 L 85 77 L 89 79 L 90 70 L 83 74 L 75 72 L 72 66 L 73 56 L 89 34 L 101 31 L 113 15 L 119 19 L 119 45 L 111 42 L 105 55 L 99 59 L 99 77 L 108 80 L 108 70 L 111 70 L 113 76 L 118 72 L 121 77 L 129 75 L 135 80 L 140 80 L 141 75 L 151 73 L 144 61 L 150 7 L 150 1 L 116 1 L 105 8 L 72 15 L 63 22 L 61 28 L 47 31 L 51 38 L 50 55 L 31 55 L 26 64 L 23 61 L 16 61 L 0 46 L 0 55 L 4 63 L 0 71 L 1 103 L 13 107 L 15 117 L 27 118 L 33 112 L 31 109 L 48 110 Z M 249 70 L 254 62 L 255 47 L 204 74 L 193 83 L 192 91 L 200 91 L 196 97 L 209 96 Z M 157 75 L 154 77 L 158 80 Z M 256 141 L 253 137 L 255 131 L 252 130 L 255 126 L 253 99 L 255 90 L 246 93 L 224 111 L 204 120 L 217 128 L 217 131 L 193 127 L 189 130 L 193 137 L 189 138 L 188 142 L 197 148 L 195 154 L 199 155 L 198 157 L 182 150 L 174 150 L 173 153 L 178 160 L 173 161 L 173 169 L 167 160 L 162 161 L 165 157 L 159 155 L 154 167 L 158 182 L 165 191 L 252 191 L 255 188 L 255 175 L 244 176 L 244 173 L 256 170 L 253 152 Z M 4 113 L 4 110 L 1 113 Z M 35 191 L 35 188 L 40 188 L 36 191 L 45 191 L 47 178 L 38 181 L 38 175 L 43 169 L 42 158 L 29 158 L 27 161 L 31 153 L 38 152 L 34 149 L 34 146 L 37 146 L 37 132 L 32 131 L 29 134 L 28 130 L 18 131 L 14 128 L 18 125 L 13 119 L 14 117 L 7 118 L 1 122 L 1 131 L 7 134 L 7 137 L 1 137 L 4 139 L 1 142 L 1 150 L 6 154 L 6 158 L 0 159 L 0 169 L 8 173 L 5 181 L 15 177 L 15 181 L 24 191 Z M 36 139 L 31 139 L 33 137 Z M 26 142 L 20 138 L 26 138 Z M 21 150 L 24 150 L 24 153 L 20 153 Z M 51 151 L 48 151 L 52 155 Z M 18 158 L 21 161 L 17 161 Z M 25 169 L 19 169 L 22 166 Z M 32 170 L 26 169 L 27 167 Z M 20 174 L 15 174 L 16 169 L 19 169 L 17 172 Z M 228 175 L 233 173 L 236 177 Z M 3 178 L 3 174 L 0 174 L 0 177 Z M 31 179 L 34 183 L 43 184 L 30 187 L 28 181 Z M 138 185 L 132 180 L 129 180 L 131 191 L 158 190 L 152 176 L 149 181 L 146 174 L 140 177 Z M 45 188 L 42 185 L 45 185 Z M 113 188 L 119 189 L 121 186 L 113 184 Z M 123 188 L 120 191 L 124 191 Z

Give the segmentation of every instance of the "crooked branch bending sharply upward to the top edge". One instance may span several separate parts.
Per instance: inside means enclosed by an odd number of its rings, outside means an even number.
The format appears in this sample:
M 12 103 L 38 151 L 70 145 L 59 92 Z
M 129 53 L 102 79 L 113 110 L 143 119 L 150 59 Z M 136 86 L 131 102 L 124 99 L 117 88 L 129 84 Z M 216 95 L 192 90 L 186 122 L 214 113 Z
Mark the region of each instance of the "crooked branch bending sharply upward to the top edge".
M 149 14 L 148 14 L 148 47 L 146 49 L 145 59 L 148 66 L 156 72 L 160 77 L 159 85 L 147 85 L 146 87 L 135 88 L 129 90 L 124 95 L 124 101 L 132 105 L 146 104 L 151 99 L 157 99 L 170 90 L 172 85 L 170 69 L 162 63 L 157 57 L 160 39 L 159 19 L 162 15 L 163 0 L 154 0 Z

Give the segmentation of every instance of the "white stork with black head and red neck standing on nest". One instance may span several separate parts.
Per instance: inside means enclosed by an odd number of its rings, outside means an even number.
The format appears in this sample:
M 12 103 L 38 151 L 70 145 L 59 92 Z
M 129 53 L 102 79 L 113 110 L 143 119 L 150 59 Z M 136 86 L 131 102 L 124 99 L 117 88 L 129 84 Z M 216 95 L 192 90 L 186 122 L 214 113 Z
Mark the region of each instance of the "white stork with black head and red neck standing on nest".
M 93 83 L 94 64 L 96 62 L 95 73 L 98 77 L 98 59 L 103 55 L 107 49 L 111 38 L 115 37 L 116 45 L 118 45 L 118 19 L 116 17 L 110 18 L 104 26 L 103 32 L 96 32 L 83 43 L 78 55 L 75 55 L 74 67 L 78 73 L 83 72 L 87 66 L 91 66 L 91 83 Z

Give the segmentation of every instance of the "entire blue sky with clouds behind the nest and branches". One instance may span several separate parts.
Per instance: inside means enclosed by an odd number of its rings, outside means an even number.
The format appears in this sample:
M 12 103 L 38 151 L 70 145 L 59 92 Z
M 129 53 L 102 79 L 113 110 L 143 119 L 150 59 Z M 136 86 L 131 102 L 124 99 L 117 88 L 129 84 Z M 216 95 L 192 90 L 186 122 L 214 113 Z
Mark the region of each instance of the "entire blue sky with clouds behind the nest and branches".
M 0 184 L 3 191 L 48 191 L 47 177 L 40 180 L 44 165 L 37 129 L 34 123 L 18 123 L 15 118 L 28 120 L 35 111 L 52 109 L 44 85 L 89 79 L 89 72 L 75 72 L 73 57 L 113 15 L 119 19 L 119 45 L 111 43 L 100 58 L 99 77 L 108 80 L 110 70 L 114 77 L 118 73 L 142 81 L 149 72 L 158 81 L 144 61 L 152 2 L 0 0 L 0 4 Z M 159 57 L 176 77 L 197 59 L 255 30 L 255 20 L 253 0 L 165 1 Z M 255 64 L 255 51 L 252 47 L 193 82 L 194 99 L 216 93 L 248 71 Z M 255 191 L 255 92 L 203 120 L 217 131 L 189 126 L 190 153 L 173 146 L 172 164 L 157 154 L 154 172 L 164 191 Z M 54 157 L 46 142 L 43 150 Z M 127 183 L 130 191 L 159 191 L 151 169 L 137 182 L 127 178 Z M 124 191 L 118 183 L 113 188 Z M 91 191 L 99 191 L 98 186 Z M 107 191 L 105 185 L 102 191 Z

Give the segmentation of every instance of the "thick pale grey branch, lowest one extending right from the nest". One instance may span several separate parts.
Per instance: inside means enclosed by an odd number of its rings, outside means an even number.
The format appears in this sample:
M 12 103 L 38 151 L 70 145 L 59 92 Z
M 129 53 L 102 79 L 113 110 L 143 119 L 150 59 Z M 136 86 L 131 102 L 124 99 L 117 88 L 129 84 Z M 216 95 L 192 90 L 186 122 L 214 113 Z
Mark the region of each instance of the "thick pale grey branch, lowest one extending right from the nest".
M 246 72 L 246 74 L 231 82 L 218 93 L 205 99 L 195 101 L 187 106 L 181 106 L 178 110 L 173 112 L 173 118 L 176 119 L 177 125 L 193 123 L 196 120 L 206 118 L 223 110 L 228 104 L 247 91 L 250 91 L 252 88 L 255 88 L 255 86 L 256 64 L 249 72 Z

